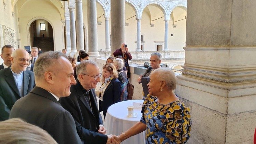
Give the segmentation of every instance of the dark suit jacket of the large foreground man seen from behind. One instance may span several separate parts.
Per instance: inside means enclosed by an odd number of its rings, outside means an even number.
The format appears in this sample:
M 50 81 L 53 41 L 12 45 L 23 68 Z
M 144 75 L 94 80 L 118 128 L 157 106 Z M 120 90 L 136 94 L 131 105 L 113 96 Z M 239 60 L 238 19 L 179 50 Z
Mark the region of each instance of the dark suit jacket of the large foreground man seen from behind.
M 59 144 L 81 144 L 75 121 L 56 98 L 43 88 L 35 87 L 20 98 L 11 110 L 10 118 L 22 118 L 46 130 Z

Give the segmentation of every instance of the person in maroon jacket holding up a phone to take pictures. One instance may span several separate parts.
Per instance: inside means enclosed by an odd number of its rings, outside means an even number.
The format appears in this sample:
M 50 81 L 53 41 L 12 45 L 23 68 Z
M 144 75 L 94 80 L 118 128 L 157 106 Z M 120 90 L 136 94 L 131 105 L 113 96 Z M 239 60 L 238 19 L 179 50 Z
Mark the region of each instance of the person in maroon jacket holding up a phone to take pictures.
M 129 68 L 129 63 L 128 63 L 128 59 L 131 60 L 132 56 L 129 52 L 129 49 L 126 45 L 126 43 L 122 43 L 121 44 L 121 48 L 120 49 L 116 49 L 116 51 L 113 53 L 114 57 L 116 56 L 122 56 L 124 58 L 125 61 L 125 67 L 127 69 L 127 78 L 130 78 L 130 68 Z

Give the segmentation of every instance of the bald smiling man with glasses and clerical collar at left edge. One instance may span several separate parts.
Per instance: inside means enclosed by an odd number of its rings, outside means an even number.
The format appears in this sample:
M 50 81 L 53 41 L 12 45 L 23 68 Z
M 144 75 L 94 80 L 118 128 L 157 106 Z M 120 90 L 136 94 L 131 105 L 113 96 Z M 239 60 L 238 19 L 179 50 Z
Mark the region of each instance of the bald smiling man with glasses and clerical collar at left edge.
M 10 60 L 12 65 L 0 70 L 0 121 L 9 119 L 13 104 L 35 86 L 34 73 L 27 70 L 30 62 L 28 52 L 16 49 Z

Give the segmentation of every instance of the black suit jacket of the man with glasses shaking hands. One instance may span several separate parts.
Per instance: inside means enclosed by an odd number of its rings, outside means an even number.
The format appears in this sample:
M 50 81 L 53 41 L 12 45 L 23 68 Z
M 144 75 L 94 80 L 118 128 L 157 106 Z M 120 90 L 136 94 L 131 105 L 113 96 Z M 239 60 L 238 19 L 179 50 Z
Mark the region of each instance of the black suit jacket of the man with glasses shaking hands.
M 89 103 L 85 100 L 80 82 L 76 80 L 76 85 L 71 86 L 71 95 L 60 99 L 60 104 L 71 113 L 76 122 L 80 134 L 85 143 L 105 144 L 108 136 L 98 133 L 102 118 L 97 110 L 95 114 L 90 109 Z M 89 91 L 91 105 L 97 107 L 97 99 L 94 89 Z M 93 107 L 93 106 L 92 106 Z

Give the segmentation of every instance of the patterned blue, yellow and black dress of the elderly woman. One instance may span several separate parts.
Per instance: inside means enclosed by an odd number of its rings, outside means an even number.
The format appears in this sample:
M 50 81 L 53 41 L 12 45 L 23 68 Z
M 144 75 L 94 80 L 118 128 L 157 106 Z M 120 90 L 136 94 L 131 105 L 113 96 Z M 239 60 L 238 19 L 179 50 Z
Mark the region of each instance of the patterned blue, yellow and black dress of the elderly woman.
M 180 100 L 160 104 L 148 95 L 142 106 L 141 122 L 146 124 L 146 144 L 186 143 L 190 136 L 190 109 Z

